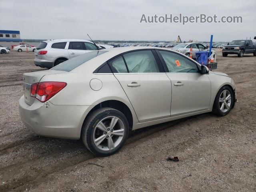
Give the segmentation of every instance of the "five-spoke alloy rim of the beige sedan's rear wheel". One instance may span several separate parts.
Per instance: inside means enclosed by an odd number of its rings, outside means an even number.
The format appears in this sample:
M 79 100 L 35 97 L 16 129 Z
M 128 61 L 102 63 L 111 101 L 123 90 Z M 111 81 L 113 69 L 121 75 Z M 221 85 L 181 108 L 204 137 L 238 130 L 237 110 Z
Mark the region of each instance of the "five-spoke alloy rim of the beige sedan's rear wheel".
M 96 125 L 93 142 L 100 150 L 112 150 L 124 137 L 124 123 L 116 116 L 108 116 Z

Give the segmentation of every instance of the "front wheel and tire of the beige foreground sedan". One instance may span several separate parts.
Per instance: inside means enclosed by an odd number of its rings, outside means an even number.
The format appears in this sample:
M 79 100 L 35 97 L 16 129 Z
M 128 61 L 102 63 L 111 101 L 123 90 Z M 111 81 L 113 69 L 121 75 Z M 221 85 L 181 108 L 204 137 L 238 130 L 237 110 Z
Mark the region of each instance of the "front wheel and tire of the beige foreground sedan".
M 233 91 L 229 86 L 223 86 L 216 95 L 212 112 L 217 116 L 225 116 L 230 112 L 233 106 L 234 106 Z

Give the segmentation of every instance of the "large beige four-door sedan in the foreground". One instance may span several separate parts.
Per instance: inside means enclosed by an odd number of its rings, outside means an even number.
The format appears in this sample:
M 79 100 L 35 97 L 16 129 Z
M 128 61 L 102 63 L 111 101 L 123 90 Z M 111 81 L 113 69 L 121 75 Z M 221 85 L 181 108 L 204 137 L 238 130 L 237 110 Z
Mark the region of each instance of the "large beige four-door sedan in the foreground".
M 24 73 L 20 117 L 42 136 L 82 139 L 98 156 L 116 153 L 132 130 L 214 112 L 236 100 L 228 75 L 167 48 L 96 50 L 50 70 Z

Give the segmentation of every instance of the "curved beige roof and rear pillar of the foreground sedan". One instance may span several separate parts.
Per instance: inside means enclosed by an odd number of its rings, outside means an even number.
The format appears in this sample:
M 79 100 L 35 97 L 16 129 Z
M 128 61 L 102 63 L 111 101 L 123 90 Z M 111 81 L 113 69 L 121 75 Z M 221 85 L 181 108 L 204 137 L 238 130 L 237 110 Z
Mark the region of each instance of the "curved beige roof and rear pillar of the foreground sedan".
M 84 64 L 78 66 L 77 68 L 74 68 L 74 70 L 72 70 L 72 72 L 93 72 L 94 70 L 96 70 L 96 68 L 98 68 L 99 66 L 101 66 L 102 64 L 104 64 L 104 62 L 110 60 L 111 58 L 119 55 L 119 54 L 123 54 L 125 52 L 129 52 L 129 51 L 136 51 L 136 50 L 168 50 L 171 52 L 176 52 L 180 55 L 183 55 L 175 50 L 172 50 L 170 48 L 160 48 L 160 47 L 151 47 L 151 46 L 144 46 L 144 47 L 134 47 L 134 46 L 129 46 L 129 47 L 115 47 L 115 48 L 107 48 L 107 49 L 101 49 L 98 50 L 99 52 L 101 51 L 105 51 L 106 53 L 104 54 L 100 54 L 97 57 L 92 58 L 91 60 L 88 60 L 87 62 L 85 62 Z M 183 55 L 184 56 L 184 55 Z M 191 59 L 191 58 L 188 58 Z M 192 60 L 192 59 L 191 59 Z M 193 62 L 195 62 L 193 60 Z

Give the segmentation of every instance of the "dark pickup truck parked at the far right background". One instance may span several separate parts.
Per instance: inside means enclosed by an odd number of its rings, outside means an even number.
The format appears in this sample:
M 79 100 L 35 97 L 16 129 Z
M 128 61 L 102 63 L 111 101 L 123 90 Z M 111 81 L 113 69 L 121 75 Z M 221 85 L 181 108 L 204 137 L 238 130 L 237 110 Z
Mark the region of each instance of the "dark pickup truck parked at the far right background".
M 222 56 L 224 57 L 228 54 L 237 54 L 238 57 L 242 57 L 247 53 L 253 53 L 256 56 L 256 45 L 253 44 L 252 40 L 234 40 L 222 48 Z

